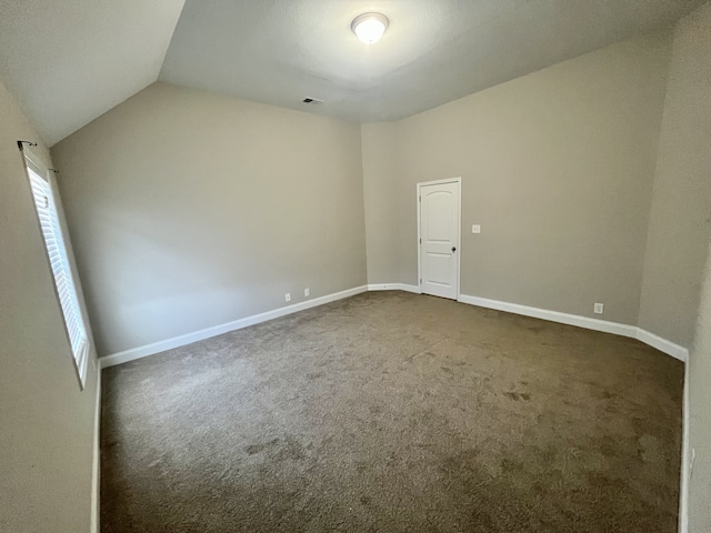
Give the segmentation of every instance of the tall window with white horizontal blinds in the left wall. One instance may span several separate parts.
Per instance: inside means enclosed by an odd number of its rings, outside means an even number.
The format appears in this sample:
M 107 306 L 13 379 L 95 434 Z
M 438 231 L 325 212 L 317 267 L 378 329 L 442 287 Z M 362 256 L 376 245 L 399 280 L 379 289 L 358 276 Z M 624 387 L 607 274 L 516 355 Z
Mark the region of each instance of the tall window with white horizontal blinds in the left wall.
M 62 234 L 59 223 L 57 203 L 52 194 L 50 171 L 27 149 L 23 150 L 23 153 L 27 163 L 27 173 L 32 188 L 32 197 L 34 198 L 34 207 L 37 208 L 37 217 L 40 222 L 42 235 L 44 237 L 47 255 L 54 279 L 57 298 L 59 299 L 59 304 L 62 310 L 64 328 L 69 336 L 71 351 L 74 355 L 77 374 L 83 389 L 87 379 L 89 339 L 79 306 L 74 280 L 69 266 L 64 235 Z

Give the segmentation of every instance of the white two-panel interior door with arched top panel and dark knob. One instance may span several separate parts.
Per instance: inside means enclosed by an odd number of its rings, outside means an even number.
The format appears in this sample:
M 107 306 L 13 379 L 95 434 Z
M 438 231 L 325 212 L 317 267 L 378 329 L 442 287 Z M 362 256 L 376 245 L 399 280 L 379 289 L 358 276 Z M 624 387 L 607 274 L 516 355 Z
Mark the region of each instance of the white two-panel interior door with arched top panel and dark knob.
M 420 289 L 459 298 L 460 188 L 457 181 L 418 184 L 420 202 Z

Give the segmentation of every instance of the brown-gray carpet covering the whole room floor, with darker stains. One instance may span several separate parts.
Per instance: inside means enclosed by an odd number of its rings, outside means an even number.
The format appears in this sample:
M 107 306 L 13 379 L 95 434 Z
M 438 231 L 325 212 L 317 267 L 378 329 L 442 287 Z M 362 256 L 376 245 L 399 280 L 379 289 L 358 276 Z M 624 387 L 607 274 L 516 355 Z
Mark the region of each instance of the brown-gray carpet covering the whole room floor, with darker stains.
M 365 293 L 103 372 L 101 531 L 675 532 L 683 365 Z

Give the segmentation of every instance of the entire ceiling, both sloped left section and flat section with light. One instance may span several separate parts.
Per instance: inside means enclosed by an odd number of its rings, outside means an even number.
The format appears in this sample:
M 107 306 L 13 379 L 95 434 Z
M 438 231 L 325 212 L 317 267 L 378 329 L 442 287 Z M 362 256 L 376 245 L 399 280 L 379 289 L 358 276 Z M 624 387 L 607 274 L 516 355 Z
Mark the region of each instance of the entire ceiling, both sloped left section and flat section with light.
M 49 144 L 157 79 L 394 120 L 668 27 L 704 1 L 0 0 L 0 80 Z M 370 47 L 350 31 L 367 11 L 390 19 Z

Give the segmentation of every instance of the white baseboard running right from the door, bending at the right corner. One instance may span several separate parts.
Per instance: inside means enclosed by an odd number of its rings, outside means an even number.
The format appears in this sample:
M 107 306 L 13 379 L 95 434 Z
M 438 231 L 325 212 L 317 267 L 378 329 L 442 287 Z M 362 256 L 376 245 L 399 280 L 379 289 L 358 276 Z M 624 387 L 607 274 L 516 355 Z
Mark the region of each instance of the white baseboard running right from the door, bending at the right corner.
M 635 325 L 620 324 L 618 322 L 609 322 L 607 320 L 590 319 L 578 314 L 561 313 L 559 311 L 549 311 L 548 309 L 530 308 L 518 303 L 500 302 L 498 300 L 489 300 L 487 298 L 470 296 L 461 294 L 458 301 L 478 305 L 480 308 L 495 309 L 508 313 L 522 314 L 524 316 L 533 316 L 534 319 L 549 320 L 561 324 L 577 325 L 587 330 L 602 331 L 604 333 L 613 333 L 615 335 L 629 336 L 638 339 L 644 344 L 655 348 L 660 352 L 671 355 L 679 361 L 687 362 L 689 359 L 689 350 L 679 344 L 674 344 L 667 339 L 662 339 L 647 330 L 642 330 Z

